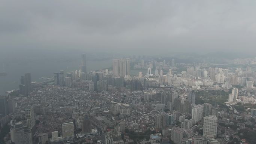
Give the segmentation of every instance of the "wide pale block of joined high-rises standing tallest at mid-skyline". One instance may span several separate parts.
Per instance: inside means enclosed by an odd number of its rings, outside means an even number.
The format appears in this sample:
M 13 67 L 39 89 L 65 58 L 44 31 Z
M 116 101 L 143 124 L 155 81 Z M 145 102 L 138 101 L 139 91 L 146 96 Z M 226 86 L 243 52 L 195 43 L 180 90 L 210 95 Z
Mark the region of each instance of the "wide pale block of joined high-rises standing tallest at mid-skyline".
M 124 77 L 130 74 L 130 59 L 113 59 L 113 76 Z

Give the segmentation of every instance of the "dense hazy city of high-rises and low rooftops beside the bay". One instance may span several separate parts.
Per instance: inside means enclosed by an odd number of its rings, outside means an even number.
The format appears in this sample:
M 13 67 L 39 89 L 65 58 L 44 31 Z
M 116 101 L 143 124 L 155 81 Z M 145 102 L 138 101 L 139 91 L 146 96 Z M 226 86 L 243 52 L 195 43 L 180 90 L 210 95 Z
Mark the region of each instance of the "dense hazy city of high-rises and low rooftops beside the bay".
M 255 144 L 255 64 L 128 56 L 86 71 L 82 54 L 78 70 L 25 73 L 0 97 L 1 143 Z

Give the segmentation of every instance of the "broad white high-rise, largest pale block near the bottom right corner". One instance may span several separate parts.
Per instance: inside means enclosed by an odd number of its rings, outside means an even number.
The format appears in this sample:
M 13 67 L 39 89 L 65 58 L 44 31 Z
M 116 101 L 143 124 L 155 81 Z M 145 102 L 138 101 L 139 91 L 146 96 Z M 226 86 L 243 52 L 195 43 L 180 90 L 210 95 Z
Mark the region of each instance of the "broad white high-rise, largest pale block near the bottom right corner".
M 203 135 L 206 137 L 216 137 L 217 135 L 217 122 L 216 116 L 204 117 L 204 131 Z

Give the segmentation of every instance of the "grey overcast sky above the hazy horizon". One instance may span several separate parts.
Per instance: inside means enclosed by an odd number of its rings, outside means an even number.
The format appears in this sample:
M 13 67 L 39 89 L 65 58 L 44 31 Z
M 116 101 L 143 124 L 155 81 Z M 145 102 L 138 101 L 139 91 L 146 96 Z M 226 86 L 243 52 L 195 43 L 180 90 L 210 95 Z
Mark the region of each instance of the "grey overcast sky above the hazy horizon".
M 255 0 L 0 0 L 0 49 L 256 52 L 255 7 Z

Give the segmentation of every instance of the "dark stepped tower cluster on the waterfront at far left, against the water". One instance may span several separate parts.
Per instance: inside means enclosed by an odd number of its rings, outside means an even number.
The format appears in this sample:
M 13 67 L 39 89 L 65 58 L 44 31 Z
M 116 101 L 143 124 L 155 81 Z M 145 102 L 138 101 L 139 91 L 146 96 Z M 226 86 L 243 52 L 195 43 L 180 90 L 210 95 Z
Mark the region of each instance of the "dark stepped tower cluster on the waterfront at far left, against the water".
M 25 76 L 21 76 L 21 85 L 19 85 L 19 91 L 22 95 L 27 95 L 32 89 L 31 74 L 25 73 Z

